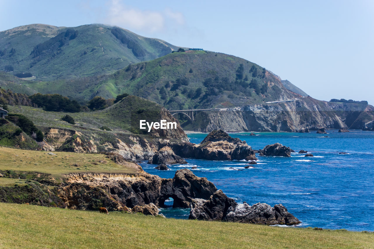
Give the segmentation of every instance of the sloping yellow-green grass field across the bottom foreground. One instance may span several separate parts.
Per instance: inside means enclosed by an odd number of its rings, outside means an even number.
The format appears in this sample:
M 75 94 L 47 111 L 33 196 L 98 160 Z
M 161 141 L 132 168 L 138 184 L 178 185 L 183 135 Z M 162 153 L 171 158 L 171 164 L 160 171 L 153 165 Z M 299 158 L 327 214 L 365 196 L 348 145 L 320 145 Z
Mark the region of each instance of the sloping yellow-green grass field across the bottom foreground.
M 0 203 L 1 248 L 373 248 L 374 233 Z

